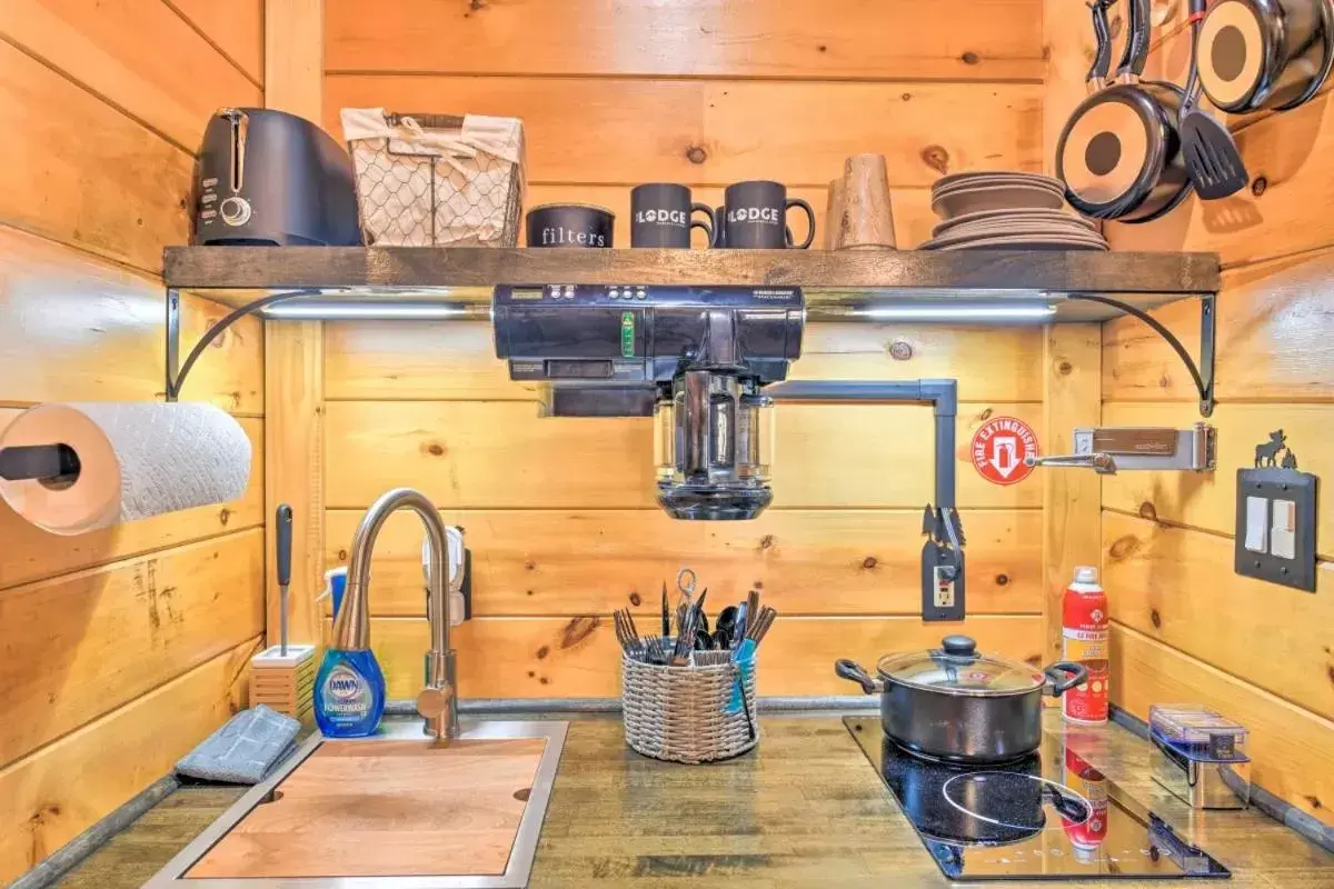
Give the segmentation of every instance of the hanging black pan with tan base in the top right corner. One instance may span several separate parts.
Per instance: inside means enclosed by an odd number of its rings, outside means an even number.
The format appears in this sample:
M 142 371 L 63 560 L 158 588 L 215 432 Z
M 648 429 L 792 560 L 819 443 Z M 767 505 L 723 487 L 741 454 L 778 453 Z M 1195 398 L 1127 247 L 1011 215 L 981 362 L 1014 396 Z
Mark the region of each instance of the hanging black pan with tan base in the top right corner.
M 1215 0 L 1198 52 L 1205 95 L 1222 111 L 1295 108 L 1334 65 L 1334 0 Z

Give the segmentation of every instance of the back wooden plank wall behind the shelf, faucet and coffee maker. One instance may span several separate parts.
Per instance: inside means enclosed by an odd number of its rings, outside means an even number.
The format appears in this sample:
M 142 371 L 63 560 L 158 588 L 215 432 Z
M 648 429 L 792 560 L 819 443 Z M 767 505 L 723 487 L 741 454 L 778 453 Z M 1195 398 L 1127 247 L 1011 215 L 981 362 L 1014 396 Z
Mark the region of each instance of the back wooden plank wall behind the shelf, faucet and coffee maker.
M 778 179 L 823 215 L 843 157 L 883 152 L 899 244 L 912 247 L 939 175 L 1043 165 L 1041 0 L 967 15 L 908 0 L 391 0 L 367 15 L 327 0 L 324 49 L 331 132 L 350 105 L 523 117 L 528 203 L 608 205 L 622 245 L 639 181 L 687 183 L 718 204 L 730 181 Z M 926 408 L 780 407 L 768 513 L 678 522 L 654 504 L 651 423 L 539 420 L 486 325 L 327 323 L 324 356 L 327 564 L 346 562 L 379 493 L 424 489 L 474 549 L 476 618 L 455 637 L 466 697 L 618 694 L 607 614 L 628 605 L 651 626 L 663 581 L 686 564 L 710 602 L 756 586 L 784 612 L 763 648 L 764 694 L 847 694 L 836 657 L 874 664 L 960 629 L 918 616 Z M 986 417 L 1043 421 L 1041 331 L 816 325 L 795 367 L 802 379 L 958 377 L 963 456 Z M 962 629 L 1037 660 L 1041 482 L 998 488 L 960 462 Z M 415 694 L 426 648 L 414 521 L 387 526 L 371 594 L 399 698 Z

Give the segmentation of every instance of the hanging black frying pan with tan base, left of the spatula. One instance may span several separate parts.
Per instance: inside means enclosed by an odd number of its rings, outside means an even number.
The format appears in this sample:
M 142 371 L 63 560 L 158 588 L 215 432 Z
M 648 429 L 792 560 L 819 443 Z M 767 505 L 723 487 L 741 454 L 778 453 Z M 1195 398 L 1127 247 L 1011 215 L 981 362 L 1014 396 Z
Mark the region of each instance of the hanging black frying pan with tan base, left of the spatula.
M 1057 144 L 1057 176 L 1066 184 L 1066 200 L 1085 216 L 1147 223 L 1190 193 L 1177 132 L 1185 93 L 1177 84 L 1139 80 L 1149 59 L 1149 0 L 1127 4 L 1118 83 L 1085 99 L 1066 123 Z M 1091 85 L 1106 75 L 1110 5 L 1111 0 L 1091 4 L 1099 44 L 1089 72 Z

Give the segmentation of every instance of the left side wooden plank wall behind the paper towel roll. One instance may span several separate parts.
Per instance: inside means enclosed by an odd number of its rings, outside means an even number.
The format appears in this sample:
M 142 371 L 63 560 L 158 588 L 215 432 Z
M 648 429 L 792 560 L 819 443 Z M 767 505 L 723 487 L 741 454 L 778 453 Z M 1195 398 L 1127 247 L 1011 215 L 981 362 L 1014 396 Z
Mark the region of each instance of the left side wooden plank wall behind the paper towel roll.
M 44 401 L 163 393 L 161 248 L 188 236 L 193 153 L 259 104 L 260 0 L 13 0 L 0 16 L 0 427 Z M 187 296 L 193 341 L 225 309 Z M 245 701 L 264 630 L 261 328 L 188 400 L 255 448 L 245 494 L 80 537 L 0 505 L 0 882 L 171 770 Z

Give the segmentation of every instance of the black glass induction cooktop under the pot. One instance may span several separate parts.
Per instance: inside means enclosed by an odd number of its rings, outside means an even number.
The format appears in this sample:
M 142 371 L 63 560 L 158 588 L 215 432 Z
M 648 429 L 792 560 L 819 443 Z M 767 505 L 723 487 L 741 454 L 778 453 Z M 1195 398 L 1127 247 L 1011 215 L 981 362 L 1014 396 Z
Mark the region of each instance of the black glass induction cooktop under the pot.
M 1231 873 L 1046 733 L 998 768 L 922 760 L 878 717 L 843 720 L 950 880 L 1174 880 Z

